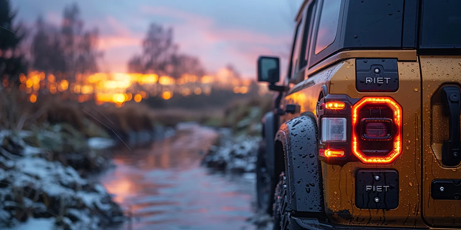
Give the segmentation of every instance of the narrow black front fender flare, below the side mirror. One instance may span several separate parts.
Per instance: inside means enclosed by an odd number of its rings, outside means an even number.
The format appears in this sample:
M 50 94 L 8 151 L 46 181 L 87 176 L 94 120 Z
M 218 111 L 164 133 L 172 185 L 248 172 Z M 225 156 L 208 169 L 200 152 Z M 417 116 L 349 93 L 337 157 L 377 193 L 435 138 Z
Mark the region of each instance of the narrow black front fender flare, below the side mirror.
M 274 175 L 275 171 L 275 150 L 274 150 L 274 138 L 276 128 L 278 127 L 278 116 L 274 112 L 267 112 L 263 119 L 263 137 L 266 140 L 266 166 L 269 170 L 270 175 Z

